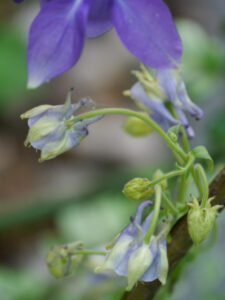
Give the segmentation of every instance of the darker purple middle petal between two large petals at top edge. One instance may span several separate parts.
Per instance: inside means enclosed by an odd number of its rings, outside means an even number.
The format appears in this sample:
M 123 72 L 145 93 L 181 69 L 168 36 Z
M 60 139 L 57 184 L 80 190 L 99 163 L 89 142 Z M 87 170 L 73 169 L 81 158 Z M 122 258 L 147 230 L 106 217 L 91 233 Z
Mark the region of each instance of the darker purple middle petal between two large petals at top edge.
M 87 22 L 86 36 L 93 38 L 112 28 L 110 17 L 112 0 L 92 0 Z

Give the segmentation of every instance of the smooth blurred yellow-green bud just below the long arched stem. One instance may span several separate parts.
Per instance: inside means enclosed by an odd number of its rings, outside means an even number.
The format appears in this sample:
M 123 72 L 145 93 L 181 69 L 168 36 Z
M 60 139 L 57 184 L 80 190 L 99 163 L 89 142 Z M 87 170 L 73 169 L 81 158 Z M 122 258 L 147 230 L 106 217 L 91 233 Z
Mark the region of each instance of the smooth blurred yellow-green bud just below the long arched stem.
M 123 129 L 132 136 L 145 136 L 150 134 L 153 129 L 144 121 L 136 117 L 128 117 L 123 123 Z

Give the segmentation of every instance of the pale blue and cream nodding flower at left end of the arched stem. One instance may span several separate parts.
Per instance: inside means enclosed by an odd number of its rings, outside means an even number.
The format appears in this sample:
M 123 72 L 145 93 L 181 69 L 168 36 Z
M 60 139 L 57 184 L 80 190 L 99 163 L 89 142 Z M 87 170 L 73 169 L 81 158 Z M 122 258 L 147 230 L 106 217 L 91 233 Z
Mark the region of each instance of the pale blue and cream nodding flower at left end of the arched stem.
M 88 135 L 88 125 L 102 118 L 92 117 L 78 120 L 73 125 L 67 124 L 86 99 L 76 104 L 71 104 L 71 92 L 68 94 L 64 105 L 41 105 L 21 115 L 28 119 L 30 127 L 25 146 L 31 145 L 41 150 L 39 161 L 55 158 L 61 153 L 74 148 Z

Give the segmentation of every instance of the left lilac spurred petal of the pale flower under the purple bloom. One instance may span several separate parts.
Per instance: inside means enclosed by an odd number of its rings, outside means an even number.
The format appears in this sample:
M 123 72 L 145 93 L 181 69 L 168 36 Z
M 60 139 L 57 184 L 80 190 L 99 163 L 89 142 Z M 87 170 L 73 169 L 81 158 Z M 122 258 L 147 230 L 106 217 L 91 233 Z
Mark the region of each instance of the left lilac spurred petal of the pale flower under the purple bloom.
M 150 96 L 146 94 L 144 88 L 139 82 L 133 85 L 133 87 L 130 90 L 130 93 L 132 98 L 136 99 L 137 101 L 140 101 L 151 111 L 156 112 L 165 119 L 167 119 L 171 124 L 178 124 L 177 120 L 174 119 L 170 112 L 166 109 L 162 100 L 157 98 L 153 94 L 150 98 Z

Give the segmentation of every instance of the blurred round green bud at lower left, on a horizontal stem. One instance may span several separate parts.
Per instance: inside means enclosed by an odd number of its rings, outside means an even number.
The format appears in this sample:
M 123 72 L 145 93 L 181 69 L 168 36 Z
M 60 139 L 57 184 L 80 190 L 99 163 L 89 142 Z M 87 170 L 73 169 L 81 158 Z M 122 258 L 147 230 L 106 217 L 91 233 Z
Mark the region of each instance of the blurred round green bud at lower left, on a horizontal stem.
M 83 258 L 82 255 L 73 255 L 73 251 L 81 246 L 81 242 L 54 246 L 45 258 L 50 273 L 57 278 L 73 274 Z

